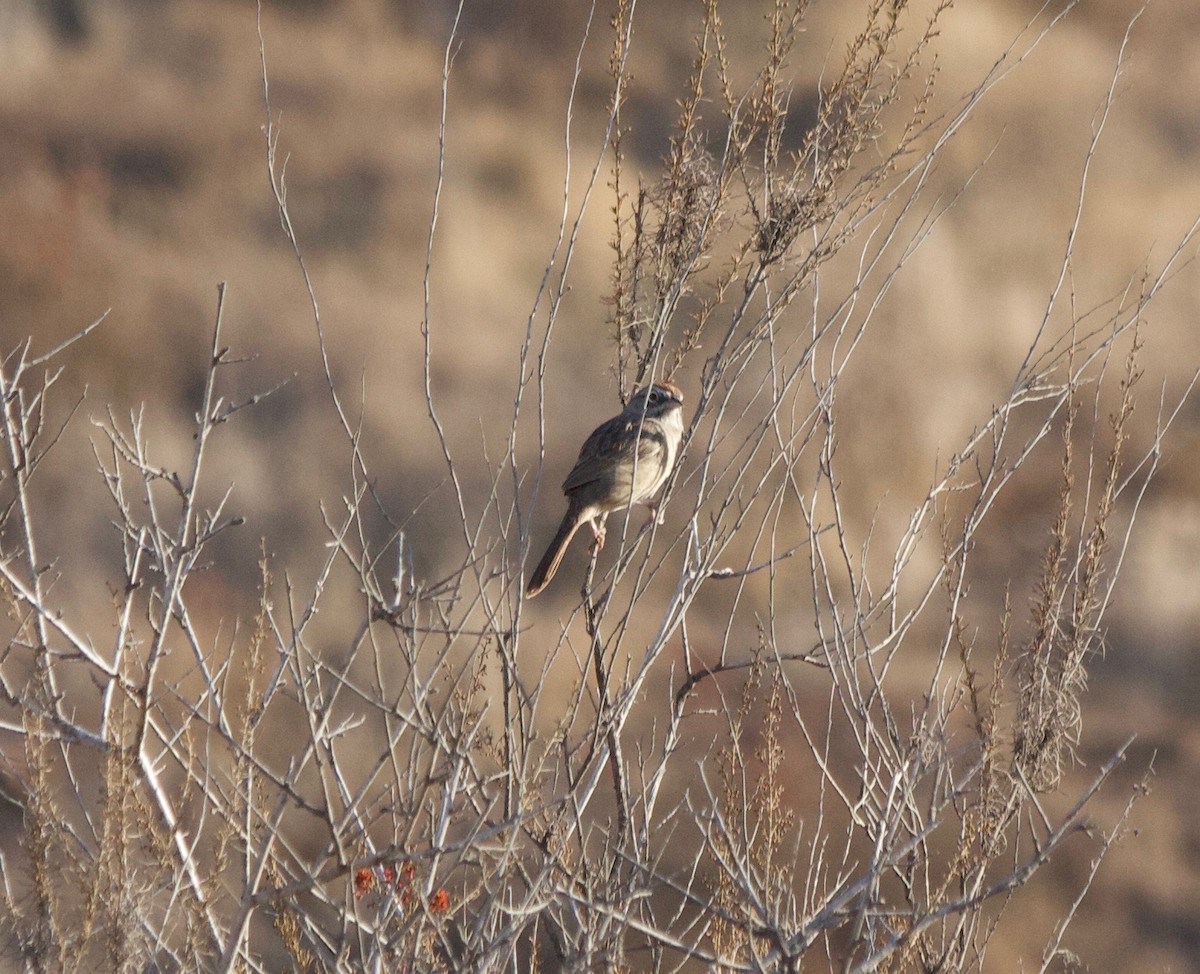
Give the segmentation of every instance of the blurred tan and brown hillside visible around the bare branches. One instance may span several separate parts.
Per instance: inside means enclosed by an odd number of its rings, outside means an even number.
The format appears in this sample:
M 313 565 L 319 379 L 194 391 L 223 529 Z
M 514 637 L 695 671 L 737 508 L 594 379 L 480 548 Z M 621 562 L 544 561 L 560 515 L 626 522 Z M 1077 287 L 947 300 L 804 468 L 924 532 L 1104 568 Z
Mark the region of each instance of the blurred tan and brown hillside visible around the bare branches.
M 942 156 L 935 185 L 970 188 L 901 275 L 866 348 L 863 381 L 842 427 L 844 476 L 868 515 L 906 519 L 937 458 L 1007 395 L 1058 272 L 1088 139 L 1126 28 L 1140 0 L 1084 0 L 979 107 Z M 654 173 L 689 73 L 700 4 L 637 8 L 626 162 Z M 757 5 L 730 5 L 733 55 L 760 56 Z M 468 0 L 450 84 L 446 179 L 433 248 L 434 392 L 466 482 L 487 482 L 486 444 L 508 429 L 516 351 L 563 208 L 564 124 L 587 4 Z M 751 10 L 755 7 L 755 10 Z M 836 64 L 864 4 L 817 4 L 794 58 L 796 102 Z M 364 449 L 392 511 L 450 503 L 421 390 L 422 271 L 438 154 L 440 71 L 449 2 L 277 0 L 263 6 L 280 160 L 312 272 L 331 366 L 358 410 Z M 1038 13 L 1027 0 L 973 0 L 944 16 L 936 54 L 943 103 L 973 88 Z M 571 187 L 600 150 L 610 86 L 610 11 L 598 8 L 572 115 Z M 919 20 L 919 14 L 917 14 Z M 1044 23 L 1043 18 L 1038 23 Z M 1093 161 L 1075 289 L 1080 307 L 1120 293 L 1163 261 L 1200 215 L 1200 5 L 1141 13 L 1118 100 Z M 163 465 L 191 453 L 216 308 L 228 282 L 226 343 L 253 356 L 228 372 L 247 410 L 214 453 L 212 483 L 235 485 L 247 518 L 228 564 L 203 577 L 193 611 L 253 612 L 258 539 L 311 582 L 320 537 L 316 499 L 344 492 L 338 434 L 296 261 L 268 185 L 256 5 L 248 0 L 4 0 L 0 2 L 0 343 L 41 353 L 108 312 L 64 360 L 55 401 L 65 417 L 47 463 L 46 551 L 61 552 L 55 597 L 109 625 L 120 547 L 91 469 L 91 417 L 145 405 Z M 601 180 L 602 182 L 602 180 Z M 583 221 L 571 290 L 551 357 L 548 464 L 565 469 L 582 437 L 616 407 L 602 296 L 611 272 L 611 198 L 598 190 Z M 1140 440 L 1159 393 L 1178 397 L 1200 366 L 1200 271 L 1186 251 L 1145 327 Z M 686 387 L 688 379 L 682 384 Z M 328 450 L 323 446 L 328 444 Z M 1189 402 L 1165 445 L 1140 512 L 1108 654 L 1085 698 L 1081 759 L 1092 768 L 1129 734 L 1127 772 L 1102 799 L 1115 813 L 1153 768 L 1130 835 L 1103 865 L 1066 945 L 1093 972 L 1200 970 L 1200 404 Z M 84 458 L 83 461 L 80 458 Z M 1036 573 L 1046 495 L 1002 513 L 1008 543 L 990 553 L 997 597 Z M 554 479 L 557 482 L 557 477 Z M 48 485 L 48 487 L 47 487 Z M 428 498 L 428 500 L 426 500 Z M 538 513 L 548 530 L 558 516 Z M 434 506 L 436 510 L 436 506 Z M 428 511 L 426 511 L 428 513 Z M 425 517 L 410 541 L 436 573 L 451 518 Z M 1030 527 L 1032 525 L 1032 527 Z M 536 533 L 536 529 L 535 529 Z M 241 546 L 240 548 L 238 546 Z M 289 561 L 292 558 L 292 561 Z M 295 564 L 293 564 L 295 563 Z M 1014 595 L 1015 611 L 1024 605 Z M 1104 820 L 1098 824 L 1104 825 Z M 1055 862 L 1009 919 L 989 969 L 1036 969 L 1045 918 L 1078 890 L 1088 849 Z M 1036 928 L 1034 928 L 1036 927 Z

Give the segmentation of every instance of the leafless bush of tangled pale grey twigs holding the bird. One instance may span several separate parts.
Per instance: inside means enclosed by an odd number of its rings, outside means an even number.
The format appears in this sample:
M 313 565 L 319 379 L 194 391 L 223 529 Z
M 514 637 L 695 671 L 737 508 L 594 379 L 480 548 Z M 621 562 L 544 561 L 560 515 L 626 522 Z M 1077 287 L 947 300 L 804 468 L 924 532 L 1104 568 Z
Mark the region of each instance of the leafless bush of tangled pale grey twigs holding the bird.
M 845 509 L 839 392 L 863 344 L 886 341 L 878 308 L 952 203 L 929 190 L 940 152 L 1054 24 L 1034 22 L 943 109 L 930 49 L 944 5 L 922 20 L 877 0 L 793 133 L 808 6 L 769 10 L 766 56 L 738 88 L 709 0 L 662 170 L 634 175 L 635 5 L 617 5 L 604 146 L 583 193 L 564 196 L 490 483 L 464 476 L 474 447 L 440 421 L 427 300 L 443 503 L 383 509 L 326 357 L 344 497 L 324 507 L 312 564 L 281 569 L 264 549 L 259 611 L 233 631 L 205 635 L 188 588 L 240 523 L 206 479 L 210 453 L 260 398 L 222 391 L 235 361 L 224 289 L 187 469 L 161 465 L 140 415 L 97 423 L 125 564 L 107 644 L 56 602 L 40 543 L 62 349 L 5 360 L 0 692 L 25 745 L 28 862 L 6 864 L 5 897 L 29 969 L 980 970 L 1006 909 L 1064 842 L 1090 831 L 1098 864 L 1120 837 L 1123 816 L 1096 828 L 1087 811 L 1124 748 L 1062 789 L 1174 417 L 1160 408 L 1130 455 L 1142 321 L 1190 234 L 1088 312 L 1072 234 L 1007 397 L 878 540 Z M 300 258 L 266 95 L 271 190 Z M 1111 102 L 1085 148 L 1080 210 Z M 684 384 L 685 456 L 665 523 L 619 518 L 577 595 L 564 570 L 559 601 L 534 608 L 533 512 L 558 504 L 545 378 L 580 221 L 606 179 L 619 395 Z M 1055 437 L 1032 618 L 1006 606 L 980 627 L 965 607 L 976 545 Z M 421 576 L 409 540 L 448 517 L 455 564 Z M 1056 918 L 1043 969 L 1073 914 Z

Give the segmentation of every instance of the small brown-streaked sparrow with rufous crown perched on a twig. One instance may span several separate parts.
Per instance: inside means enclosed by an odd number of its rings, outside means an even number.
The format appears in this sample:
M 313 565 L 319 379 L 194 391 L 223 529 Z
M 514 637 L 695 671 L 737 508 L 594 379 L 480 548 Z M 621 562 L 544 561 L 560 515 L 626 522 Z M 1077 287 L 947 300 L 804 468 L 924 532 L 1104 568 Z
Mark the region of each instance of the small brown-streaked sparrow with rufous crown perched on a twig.
M 580 450 L 566 480 L 566 515 L 538 563 L 526 595 L 534 596 L 554 577 L 571 537 L 584 522 L 604 547 L 610 511 L 648 503 L 664 485 L 683 440 L 683 393 L 671 383 L 638 389 L 619 416 L 598 426 Z

